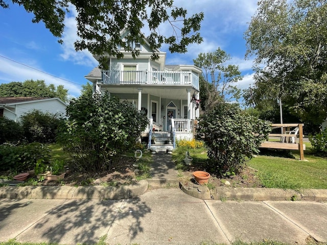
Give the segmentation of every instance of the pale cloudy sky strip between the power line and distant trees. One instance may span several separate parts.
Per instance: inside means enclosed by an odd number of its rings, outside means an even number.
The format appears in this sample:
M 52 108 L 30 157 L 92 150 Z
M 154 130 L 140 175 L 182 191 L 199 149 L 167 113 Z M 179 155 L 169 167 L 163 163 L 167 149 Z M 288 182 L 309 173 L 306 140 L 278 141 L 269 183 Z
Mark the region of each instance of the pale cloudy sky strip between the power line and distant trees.
M 53 77 L 48 74 L 44 74 L 41 71 L 29 68 L 27 66 L 6 60 L 0 57 L 0 77 L 4 82 L 24 82 L 26 80 L 44 80 L 46 84 L 54 84 L 55 86 L 64 85 L 65 89 L 68 89 L 68 93 L 72 96 L 79 96 L 81 86 L 60 78 Z

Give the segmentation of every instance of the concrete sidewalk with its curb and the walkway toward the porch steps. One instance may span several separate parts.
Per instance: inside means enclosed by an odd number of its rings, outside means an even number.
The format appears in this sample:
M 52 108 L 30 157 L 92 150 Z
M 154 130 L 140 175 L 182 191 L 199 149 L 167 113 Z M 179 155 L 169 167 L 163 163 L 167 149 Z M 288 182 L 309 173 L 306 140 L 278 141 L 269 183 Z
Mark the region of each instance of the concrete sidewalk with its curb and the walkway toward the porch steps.
M 153 159 L 152 180 L 133 186 L 1 187 L 0 241 L 327 242 L 327 190 L 218 188 L 206 198 L 195 198 L 194 193 L 199 195 L 206 187 L 196 186 L 186 194 L 177 188 L 178 172 L 171 155 L 155 154 Z M 176 188 L 167 188 L 172 186 Z M 285 201 L 295 195 L 302 201 Z

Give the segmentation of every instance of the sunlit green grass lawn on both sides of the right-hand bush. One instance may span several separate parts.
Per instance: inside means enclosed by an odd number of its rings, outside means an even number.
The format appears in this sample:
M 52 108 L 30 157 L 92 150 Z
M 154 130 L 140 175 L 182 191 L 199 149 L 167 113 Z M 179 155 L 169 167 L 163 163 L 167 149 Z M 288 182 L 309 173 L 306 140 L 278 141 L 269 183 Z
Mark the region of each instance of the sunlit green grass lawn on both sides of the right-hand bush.
M 311 152 L 310 142 L 305 142 L 305 161 L 300 158 L 299 151 L 290 151 L 294 158 L 258 155 L 247 161 L 247 166 L 256 170 L 261 184 L 268 188 L 283 189 L 327 189 L 327 158 L 315 156 Z M 204 162 L 204 148 L 192 150 L 190 155 L 195 162 Z M 176 151 L 178 162 L 184 158 L 185 151 Z M 282 153 L 282 152 L 281 152 Z M 281 154 L 283 155 L 283 154 Z M 286 155 L 286 154 L 284 154 Z M 179 163 L 181 164 L 181 163 Z

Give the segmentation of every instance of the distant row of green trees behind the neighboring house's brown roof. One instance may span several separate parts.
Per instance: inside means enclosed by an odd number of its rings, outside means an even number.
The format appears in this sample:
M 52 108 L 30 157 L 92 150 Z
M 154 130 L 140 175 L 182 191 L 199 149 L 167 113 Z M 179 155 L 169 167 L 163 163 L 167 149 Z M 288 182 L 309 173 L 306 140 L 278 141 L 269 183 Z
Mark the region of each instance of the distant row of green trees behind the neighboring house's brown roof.
M 44 80 L 26 80 L 0 84 L 0 97 L 58 97 L 67 102 L 68 89 L 63 85 L 46 85 Z

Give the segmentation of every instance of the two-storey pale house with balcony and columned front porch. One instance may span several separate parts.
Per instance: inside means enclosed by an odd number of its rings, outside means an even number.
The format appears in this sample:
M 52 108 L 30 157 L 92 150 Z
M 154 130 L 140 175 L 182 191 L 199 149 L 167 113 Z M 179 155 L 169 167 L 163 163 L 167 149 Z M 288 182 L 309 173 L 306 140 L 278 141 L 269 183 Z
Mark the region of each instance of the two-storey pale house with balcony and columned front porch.
M 126 33 L 122 32 L 122 38 Z M 166 53 L 152 50 L 146 39 L 134 47 L 139 50 L 135 59 L 121 50 L 123 59 L 108 56 L 108 70 L 94 68 L 85 78 L 92 82 L 94 92 L 107 91 L 143 110 L 156 134 L 174 131 L 177 138 L 191 139 L 194 119 L 199 116 L 202 70 L 195 65 L 166 65 Z M 159 56 L 156 61 L 151 60 L 153 52 Z

